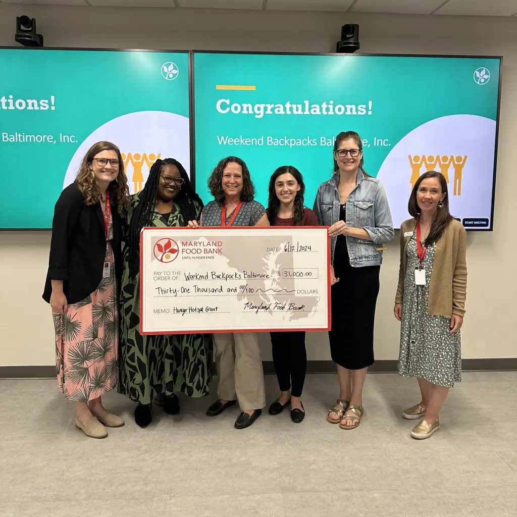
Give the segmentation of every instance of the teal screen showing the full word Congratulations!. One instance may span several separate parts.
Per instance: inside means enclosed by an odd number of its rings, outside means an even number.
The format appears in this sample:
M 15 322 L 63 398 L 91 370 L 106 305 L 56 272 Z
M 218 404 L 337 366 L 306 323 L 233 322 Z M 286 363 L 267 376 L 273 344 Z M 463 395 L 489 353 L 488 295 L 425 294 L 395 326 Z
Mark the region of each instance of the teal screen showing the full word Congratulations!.
M 425 171 L 448 183 L 451 213 L 492 229 L 499 108 L 498 57 L 194 52 L 195 178 L 229 155 L 248 165 L 267 204 L 270 175 L 294 165 L 312 207 L 332 175 L 333 138 L 357 131 L 364 169 L 383 183 L 400 227 Z

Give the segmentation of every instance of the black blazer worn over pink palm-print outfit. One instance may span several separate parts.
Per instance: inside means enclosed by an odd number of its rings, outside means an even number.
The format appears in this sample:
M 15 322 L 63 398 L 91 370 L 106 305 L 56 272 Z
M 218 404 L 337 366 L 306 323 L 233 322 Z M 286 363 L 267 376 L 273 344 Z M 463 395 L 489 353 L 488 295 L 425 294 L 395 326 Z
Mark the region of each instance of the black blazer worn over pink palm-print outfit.
M 115 276 L 122 271 L 121 221 L 116 201 L 111 203 Z M 100 203 L 86 205 L 77 183 L 69 185 L 57 200 L 52 220 L 49 270 L 43 299 L 50 302 L 51 280 L 63 280 L 67 302 L 77 303 L 92 294 L 102 280 L 106 255 L 104 217 Z

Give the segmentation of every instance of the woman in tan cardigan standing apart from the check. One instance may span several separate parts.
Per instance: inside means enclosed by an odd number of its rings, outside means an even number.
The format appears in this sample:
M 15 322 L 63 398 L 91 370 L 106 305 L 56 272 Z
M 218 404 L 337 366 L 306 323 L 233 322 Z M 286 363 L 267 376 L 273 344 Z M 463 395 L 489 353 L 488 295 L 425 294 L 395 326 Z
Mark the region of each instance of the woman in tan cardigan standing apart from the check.
M 395 317 L 402 322 L 399 373 L 417 377 L 422 399 L 404 411 L 423 417 L 413 438 L 429 438 L 449 388 L 461 381 L 460 328 L 467 290 L 466 233 L 449 213 L 442 174 L 422 174 L 409 197 L 413 217 L 400 229 Z

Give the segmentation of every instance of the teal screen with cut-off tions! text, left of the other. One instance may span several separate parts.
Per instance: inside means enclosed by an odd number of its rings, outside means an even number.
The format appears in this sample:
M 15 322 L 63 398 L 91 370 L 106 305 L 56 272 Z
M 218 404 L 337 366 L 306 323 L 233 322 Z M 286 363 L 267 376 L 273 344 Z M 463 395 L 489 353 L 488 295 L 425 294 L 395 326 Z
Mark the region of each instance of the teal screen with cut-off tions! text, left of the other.
M 120 147 L 131 192 L 158 157 L 189 172 L 189 53 L 0 49 L 1 228 L 50 228 L 100 140 Z

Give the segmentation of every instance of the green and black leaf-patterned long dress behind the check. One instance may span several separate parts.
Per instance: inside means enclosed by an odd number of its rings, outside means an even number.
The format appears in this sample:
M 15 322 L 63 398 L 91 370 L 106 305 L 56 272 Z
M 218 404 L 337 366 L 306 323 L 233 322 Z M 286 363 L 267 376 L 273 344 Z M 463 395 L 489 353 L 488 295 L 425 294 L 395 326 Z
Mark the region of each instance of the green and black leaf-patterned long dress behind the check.
M 126 216 L 126 227 L 139 202 L 139 195 L 134 194 Z M 191 202 L 199 219 L 202 207 L 195 201 Z M 184 220 L 174 205 L 171 214 L 155 211 L 151 226 L 184 226 Z M 149 404 L 158 393 L 168 397 L 178 391 L 189 397 L 208 394 L 212 376 L 211 334 L 140 334 L 140 273 L 131 278 L 128 246 L 123 252 L 119 308 L 119 393 L 141 404 Z

